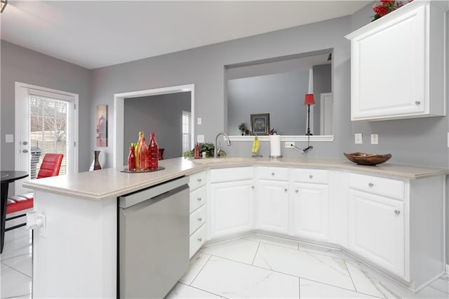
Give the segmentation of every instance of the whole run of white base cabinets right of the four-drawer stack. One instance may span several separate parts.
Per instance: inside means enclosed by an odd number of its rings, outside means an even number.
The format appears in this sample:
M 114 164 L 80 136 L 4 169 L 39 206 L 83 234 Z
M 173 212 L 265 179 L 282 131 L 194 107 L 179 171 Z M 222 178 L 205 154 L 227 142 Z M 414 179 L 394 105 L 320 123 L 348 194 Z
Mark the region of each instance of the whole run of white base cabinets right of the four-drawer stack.
M 257 229 L 335 242 L 417 290 L 445 272 L 444 199 L 443 174 L 217 168 L 210 170 L 207 238 Z

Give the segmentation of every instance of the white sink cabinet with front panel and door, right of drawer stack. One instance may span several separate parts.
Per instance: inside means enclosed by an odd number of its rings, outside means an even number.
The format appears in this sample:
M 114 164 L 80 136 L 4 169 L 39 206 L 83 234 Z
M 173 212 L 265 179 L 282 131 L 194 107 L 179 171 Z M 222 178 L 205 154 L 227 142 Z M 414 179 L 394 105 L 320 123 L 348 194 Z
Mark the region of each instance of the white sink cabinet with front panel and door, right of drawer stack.
M 210 239 L 254 229 L 253 173 L 253 167 L 210 171 Z

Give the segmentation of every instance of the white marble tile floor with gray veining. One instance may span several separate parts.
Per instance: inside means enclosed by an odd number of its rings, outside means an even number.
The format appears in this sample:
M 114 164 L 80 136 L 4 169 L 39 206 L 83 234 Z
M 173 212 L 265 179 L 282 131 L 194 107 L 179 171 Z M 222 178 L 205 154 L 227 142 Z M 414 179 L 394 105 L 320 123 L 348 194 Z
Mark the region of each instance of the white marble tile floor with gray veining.
M 29 231 L 6 232 L 0 264 L 1 298 L 32 298 Z M 449 276 L 415 294 L 342 251 L 253 234 L 203 246 L 166 298 L 449 299 Z

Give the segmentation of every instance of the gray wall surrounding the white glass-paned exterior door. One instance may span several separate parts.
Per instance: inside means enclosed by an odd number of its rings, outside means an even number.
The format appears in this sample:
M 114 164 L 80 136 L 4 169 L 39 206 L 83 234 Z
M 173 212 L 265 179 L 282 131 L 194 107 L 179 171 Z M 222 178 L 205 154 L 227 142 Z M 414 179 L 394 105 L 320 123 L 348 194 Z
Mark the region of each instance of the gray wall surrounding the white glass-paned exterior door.
M 91 107 L 91 71 L 36 51 L 1 41 L 1 168 L 14 169 L 14 145 L 5 134 L 15 134 L 15 81 L 79 95 L 79 171 L 92 159 L 88 120 Z M 11 185 L 12 186 L 12 185 Z M 13 188 L 12 188 L 13 189 Z M 13 190 L 11 191 L 13 192 Z

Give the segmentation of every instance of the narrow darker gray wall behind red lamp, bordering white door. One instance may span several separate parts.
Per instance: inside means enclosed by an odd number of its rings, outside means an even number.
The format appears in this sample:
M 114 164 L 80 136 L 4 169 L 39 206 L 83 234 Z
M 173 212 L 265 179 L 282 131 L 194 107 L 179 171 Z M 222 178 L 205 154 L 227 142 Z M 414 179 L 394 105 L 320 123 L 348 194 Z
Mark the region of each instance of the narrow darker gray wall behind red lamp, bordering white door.
M 320 135 L 321 93 L 332 92 L 332 65 L 314 65 L 314 135 Z

